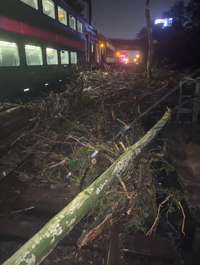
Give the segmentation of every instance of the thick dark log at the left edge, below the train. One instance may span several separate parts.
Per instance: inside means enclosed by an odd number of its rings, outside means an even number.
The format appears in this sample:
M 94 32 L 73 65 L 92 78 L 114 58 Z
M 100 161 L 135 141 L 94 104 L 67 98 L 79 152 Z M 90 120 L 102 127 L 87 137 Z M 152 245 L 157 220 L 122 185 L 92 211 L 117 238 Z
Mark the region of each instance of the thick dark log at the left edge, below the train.
M 26 107 L 15 107 L 0 112 L 0 140 L 29 124 L 31 111 Z

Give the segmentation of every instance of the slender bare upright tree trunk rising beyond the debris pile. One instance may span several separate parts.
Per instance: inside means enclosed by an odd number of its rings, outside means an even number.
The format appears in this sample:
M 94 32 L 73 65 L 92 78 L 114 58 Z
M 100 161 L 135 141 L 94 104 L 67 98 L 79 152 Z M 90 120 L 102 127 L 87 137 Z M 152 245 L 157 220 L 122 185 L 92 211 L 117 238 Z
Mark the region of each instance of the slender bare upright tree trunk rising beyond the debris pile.
M 144 6 L 145 17 L 147 21 L 147 31 L 148 31 L 148 38 L 149 38 L 149 54 L 148 54 L 148 61 L 147 61 L 147 75 L 148 79 L 152 76 L 151 69 L 152 69 L 152 57 L 153 57 L 153 30 L 151 26 L 151 19 L 149 14 L 149 0 L 146 1 Z

